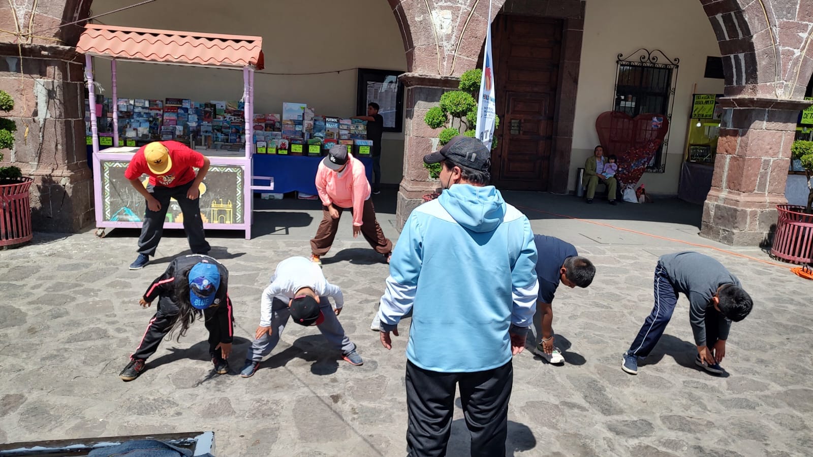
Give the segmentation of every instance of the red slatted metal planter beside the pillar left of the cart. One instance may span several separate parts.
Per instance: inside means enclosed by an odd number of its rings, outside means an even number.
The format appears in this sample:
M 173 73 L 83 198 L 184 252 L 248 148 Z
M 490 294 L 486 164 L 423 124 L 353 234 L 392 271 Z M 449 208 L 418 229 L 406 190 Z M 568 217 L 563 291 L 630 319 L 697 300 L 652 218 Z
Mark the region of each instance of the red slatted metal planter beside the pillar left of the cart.
M 33 180 L 20 178 L 20 182 L 0 185 L 0 247 L 30 242 L 31 204 L 28 188 Z

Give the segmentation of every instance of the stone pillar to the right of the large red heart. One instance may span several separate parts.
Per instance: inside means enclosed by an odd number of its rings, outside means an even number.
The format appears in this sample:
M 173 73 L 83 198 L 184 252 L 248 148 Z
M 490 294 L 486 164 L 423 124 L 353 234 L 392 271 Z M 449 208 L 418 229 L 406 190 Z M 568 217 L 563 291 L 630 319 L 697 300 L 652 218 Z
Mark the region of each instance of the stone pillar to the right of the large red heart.
M 785 200 L 790 145 L 799 110 L 810 102 L 721 98 L 714 176 L 700 234 L 734 246 L 757 246 Z

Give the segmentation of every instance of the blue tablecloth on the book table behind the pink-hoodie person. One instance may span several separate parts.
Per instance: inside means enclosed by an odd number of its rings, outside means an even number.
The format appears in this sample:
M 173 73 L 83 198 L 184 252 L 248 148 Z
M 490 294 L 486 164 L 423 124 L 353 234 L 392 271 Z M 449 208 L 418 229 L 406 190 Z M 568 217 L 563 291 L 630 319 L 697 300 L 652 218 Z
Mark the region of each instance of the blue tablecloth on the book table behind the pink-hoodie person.
M 273 176 L 275 194 L 298 190 L 304 194 L 316 194 L 316 170 L 322 157 L 306 155 L 255 154 L 254 176 Z M 367 180 L 372 182 L 372 159 L 357 158 L 364 164 Z M 268 181 L 254 180 L 254 185 L 268 185 Z

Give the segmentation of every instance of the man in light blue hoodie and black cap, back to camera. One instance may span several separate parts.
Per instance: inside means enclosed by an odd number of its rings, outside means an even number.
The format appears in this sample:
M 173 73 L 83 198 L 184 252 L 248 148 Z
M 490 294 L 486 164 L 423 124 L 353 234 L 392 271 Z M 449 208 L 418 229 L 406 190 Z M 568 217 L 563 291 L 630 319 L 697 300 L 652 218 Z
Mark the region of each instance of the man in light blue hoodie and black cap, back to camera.
M 528 218 L 490 181 L 490 151 L 454 137 L 441 163 L 441 196 L 415 208 L 389 263 L 378 318 L 381 344 L 412 311 L 406 346 L 406 445 L 446 455 L 459 385 L 472 455 L 505 455 L 511 358 L 525 346 L 537 299 L 537 248 Z

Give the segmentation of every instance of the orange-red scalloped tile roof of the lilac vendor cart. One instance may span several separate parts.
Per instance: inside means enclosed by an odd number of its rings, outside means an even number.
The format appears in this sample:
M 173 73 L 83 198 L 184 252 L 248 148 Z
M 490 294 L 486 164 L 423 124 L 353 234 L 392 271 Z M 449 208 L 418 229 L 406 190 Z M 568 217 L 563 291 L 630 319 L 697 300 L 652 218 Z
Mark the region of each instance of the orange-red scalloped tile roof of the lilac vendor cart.
M 263 37 L 87 24 L 76 51 L 116 59 L 262 70 Z

